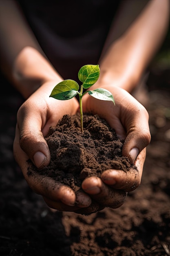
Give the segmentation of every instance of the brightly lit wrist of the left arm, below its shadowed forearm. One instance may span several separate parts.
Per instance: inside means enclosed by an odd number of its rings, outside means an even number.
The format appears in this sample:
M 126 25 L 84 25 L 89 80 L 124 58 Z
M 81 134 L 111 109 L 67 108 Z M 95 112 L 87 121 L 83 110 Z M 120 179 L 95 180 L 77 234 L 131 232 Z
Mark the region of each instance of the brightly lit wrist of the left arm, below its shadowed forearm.
M 26 47 L 15 58 L 12 80 L 16 89 L 27 99 L 48 81 L 59 83 L 62 77 L 49 61 L 32 47 Z

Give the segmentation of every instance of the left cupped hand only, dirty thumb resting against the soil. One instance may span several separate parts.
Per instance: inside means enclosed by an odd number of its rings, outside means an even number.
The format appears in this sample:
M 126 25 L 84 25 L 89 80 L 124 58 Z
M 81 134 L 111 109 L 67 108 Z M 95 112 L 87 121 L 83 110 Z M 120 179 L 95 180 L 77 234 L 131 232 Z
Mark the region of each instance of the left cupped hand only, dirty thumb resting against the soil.
M 46 204 L 60 211 L 75 211 L 91 204 L 91 197 L 83 191 L 74 191 L 49 177 L 32 172 L 28 175 L 29 162 L 41 171 L 50 162 L 49 147 L 44 139 L 50 126 L 56 126 L 63 115 L 74 115 L 79 108 L 77 99 L 59 101 L 49 97 L 56 82 L 43 84 L 20 107 L 13 143 L 13 153 L 30 188 L 43 196 Z

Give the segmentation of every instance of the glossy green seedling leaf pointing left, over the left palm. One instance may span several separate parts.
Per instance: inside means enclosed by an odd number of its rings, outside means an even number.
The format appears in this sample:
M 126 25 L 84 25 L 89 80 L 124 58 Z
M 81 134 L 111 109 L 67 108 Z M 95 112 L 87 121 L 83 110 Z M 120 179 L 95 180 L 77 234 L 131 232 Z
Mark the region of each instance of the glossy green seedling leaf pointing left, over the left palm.
M 50 97 L 60 100 L 72 99 L 78 93 L 79 85 L 74 80 L 64 80 L 53 88 Z

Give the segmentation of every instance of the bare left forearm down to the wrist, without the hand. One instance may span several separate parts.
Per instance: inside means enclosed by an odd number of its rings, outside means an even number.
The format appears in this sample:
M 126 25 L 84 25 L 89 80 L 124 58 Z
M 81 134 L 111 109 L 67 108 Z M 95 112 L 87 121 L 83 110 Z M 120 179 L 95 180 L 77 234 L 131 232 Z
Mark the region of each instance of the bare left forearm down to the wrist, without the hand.
M 25 99 L 42 83 L 62 80 L 13 0 L 0 1 L 0 66 Z

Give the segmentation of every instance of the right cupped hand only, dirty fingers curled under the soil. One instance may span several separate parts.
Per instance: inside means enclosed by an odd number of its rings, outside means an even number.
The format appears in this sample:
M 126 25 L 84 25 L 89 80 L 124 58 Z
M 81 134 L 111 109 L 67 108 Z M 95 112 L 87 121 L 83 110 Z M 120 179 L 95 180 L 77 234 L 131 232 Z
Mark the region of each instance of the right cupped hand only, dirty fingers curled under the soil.
M 150 143 L 148 112 L 125 90 L 109 85 L 104 88 L 113 94 L 116 106 L 111 101 L 100 101 L 86 93 L 83 111 L 106 119 L 119 139 L 124 140 L 122 155 L 128 157 L 137 168 L 127 172 L 106 170 L 100 178 L 86 178 L 82 182 L 82 189 L 103 208 L 118 208 L 125 202 L 127 193 L 141 183 L 146 146 Z

